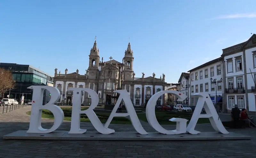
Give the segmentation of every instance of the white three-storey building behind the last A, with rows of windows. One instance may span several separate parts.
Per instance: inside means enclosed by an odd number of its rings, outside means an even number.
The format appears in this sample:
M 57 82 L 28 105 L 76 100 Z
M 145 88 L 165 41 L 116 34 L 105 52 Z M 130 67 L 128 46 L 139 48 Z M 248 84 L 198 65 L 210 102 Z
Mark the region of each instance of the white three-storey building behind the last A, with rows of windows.
M 209 93 L 212 102 L 222 110 L 222 62 L 221 57 L 204 63 L 188 71 L 190 74 L 190 105 L 196 106 L 198 98 L 192 95 L 200 92 Z M 216 106 L 217 106 L 216 105 Z

